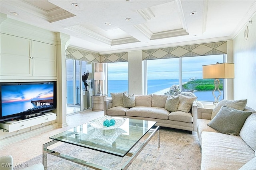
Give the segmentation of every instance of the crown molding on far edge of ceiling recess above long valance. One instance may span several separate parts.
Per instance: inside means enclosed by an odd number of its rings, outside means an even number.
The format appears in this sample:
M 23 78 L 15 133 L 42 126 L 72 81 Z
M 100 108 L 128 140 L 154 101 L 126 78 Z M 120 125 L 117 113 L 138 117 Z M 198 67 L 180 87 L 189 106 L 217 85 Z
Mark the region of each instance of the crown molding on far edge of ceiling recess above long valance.
M 170 31 L 162 31 L 159 33 L 153 33 L 150 40 L 178 37 L 178 36 L 183 36 L 183 35 L 188 35 L 188 33 L 185 29 L 174 29 L 174 30 L 170 30 Z

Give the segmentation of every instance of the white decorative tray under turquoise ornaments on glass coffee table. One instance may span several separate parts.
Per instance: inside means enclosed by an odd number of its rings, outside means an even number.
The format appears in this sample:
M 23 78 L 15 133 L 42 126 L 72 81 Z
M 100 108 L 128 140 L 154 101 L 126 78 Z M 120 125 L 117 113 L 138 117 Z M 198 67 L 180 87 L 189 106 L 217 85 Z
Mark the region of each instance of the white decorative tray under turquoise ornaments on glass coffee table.
M 110 120 L 110 119 L 114 119 L 116 121 L 115 125 L 113 126 L 109 126 L 109 127 L 106 127 L 103 125 L 103 122 L 105 120 Z M 113 117 L 110 117 L 108 115 L 105 115 L 104 117 L 100 118 L 99 120 L 97 121 L 90 121 L 89 124 L 92 126 L 92 127 L 95 127 L 97 129 L 102 129 L 102 130 L 110 130 L 110 129 L 115 129 L 119 126 L 121 126 L 122 124 L 124 124 L 124 122 L 126 121 L 126 118 L 122 118 L 122 119 L 115 119 Z

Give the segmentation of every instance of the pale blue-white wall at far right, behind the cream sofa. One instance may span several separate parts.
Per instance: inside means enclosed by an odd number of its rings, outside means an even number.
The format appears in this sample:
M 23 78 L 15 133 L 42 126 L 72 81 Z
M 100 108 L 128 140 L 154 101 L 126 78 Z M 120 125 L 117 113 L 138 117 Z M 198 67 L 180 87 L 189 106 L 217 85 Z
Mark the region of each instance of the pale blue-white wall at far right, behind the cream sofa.
M 248 26 L 245 41 L 244 30 Z M 233 41 L 235 63 L 234 100 L 247 99 L 247 106 L 256 109 L 256 14 Z

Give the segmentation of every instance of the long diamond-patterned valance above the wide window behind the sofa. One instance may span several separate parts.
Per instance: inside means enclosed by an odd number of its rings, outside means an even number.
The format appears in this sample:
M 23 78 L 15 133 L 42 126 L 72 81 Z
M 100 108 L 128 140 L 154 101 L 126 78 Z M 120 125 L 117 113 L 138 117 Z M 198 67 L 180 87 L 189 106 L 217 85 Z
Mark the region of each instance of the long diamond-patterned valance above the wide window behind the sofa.
M 227 54 L 227 41 L 142 50 L 142 60 Z

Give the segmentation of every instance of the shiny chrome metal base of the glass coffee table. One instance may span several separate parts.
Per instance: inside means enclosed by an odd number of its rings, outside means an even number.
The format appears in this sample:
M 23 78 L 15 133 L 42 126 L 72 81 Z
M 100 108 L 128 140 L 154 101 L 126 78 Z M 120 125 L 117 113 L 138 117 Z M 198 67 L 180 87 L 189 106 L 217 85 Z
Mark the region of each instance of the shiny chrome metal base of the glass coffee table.
M 130 166 L 130 164 L 132 164 L 132 162 L 135 160 L 135 158 L 140 154 L 140 152 L 144 149 L 144 147 L 146 147 L 146 145 L 148 144 L 150 139 L 152 139 L 152 137 L 156 133 L 158 133 L 158 148 L 160 148 L 160 132 L 159 132 L 159 129 L 160 129 L 159 126 L 157 126 L 156 129 L 150 129 L 150 131 L 149 131 L 149 132 L 151 132 L 150 136 L 144 141 L 144 143 L 142 143 L 142 145 L 138 148 L 138 150 L 136 150 L 136 152 L 134 152 L 134 153 L 128 152 L 126 154 L 126 156 L 130 156 L 130 159 L 126 162 L 126 164 L 124 164 L 124 166 L 122 166 L 122 170 L 126 170 Z M 59 152 L 55 152 L 54 150 L 47 149 L 47 147 L 49 147 L 50 145 L 53 145 L 54 143 L 57 143 L 57 142 L 59 142 L 59 141 L 53 140 L 53 141 L 50 141 L 50 142 L 43 145 L 44 170 L 47 170 L 47 154 L 51 154 L 53 156 L 57 156 L 59 158 L 66 159 L 66 160 L 69 160 L 71 162 L 75 162 L 77 164 L 87 166 L 89 168 L 93 168 L 93 169 L 96 169 L 96 170 L 110 170 L 110 169 L 108 169 L 104 166 L 100 166 L 100 165 L 97 165 L 97 164 L 86 162 L 85 160 L 74 158 L 72 156 L 68 156 L 66 154 L 62 154 L 62 153 L 59 153 Z

